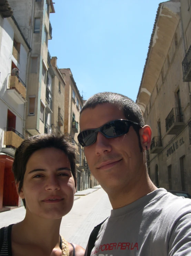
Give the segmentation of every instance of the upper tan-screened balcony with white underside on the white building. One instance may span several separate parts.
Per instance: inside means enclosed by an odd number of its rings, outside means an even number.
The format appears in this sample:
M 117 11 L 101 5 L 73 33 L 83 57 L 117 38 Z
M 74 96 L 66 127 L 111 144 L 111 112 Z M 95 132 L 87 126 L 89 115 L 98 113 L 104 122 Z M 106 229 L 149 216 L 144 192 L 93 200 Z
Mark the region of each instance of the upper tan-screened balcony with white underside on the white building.
M 19 76 L 9 76 L 9 85 L 7 92 L 17 104 L 26 102 L 26 85 Z

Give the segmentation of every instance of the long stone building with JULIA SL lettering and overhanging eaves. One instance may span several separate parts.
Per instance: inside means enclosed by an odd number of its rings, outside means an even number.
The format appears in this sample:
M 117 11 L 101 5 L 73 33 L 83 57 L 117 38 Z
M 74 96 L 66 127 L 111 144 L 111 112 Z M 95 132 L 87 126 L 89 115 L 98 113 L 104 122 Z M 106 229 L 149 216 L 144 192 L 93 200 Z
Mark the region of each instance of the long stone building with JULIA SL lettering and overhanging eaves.
M 191 1 L 159 4 L 137 96 L 152 141 L 151 180 L 191 193 Z

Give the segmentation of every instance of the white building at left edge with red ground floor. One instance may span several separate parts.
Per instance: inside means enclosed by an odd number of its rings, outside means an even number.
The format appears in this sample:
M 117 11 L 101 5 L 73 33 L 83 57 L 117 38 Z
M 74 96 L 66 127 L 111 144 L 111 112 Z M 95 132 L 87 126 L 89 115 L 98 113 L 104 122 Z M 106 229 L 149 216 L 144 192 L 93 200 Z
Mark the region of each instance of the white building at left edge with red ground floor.
M 31 48 L 8 1 L 0 5 L 0 209 L 18 206 L 11 171 L 14 153 L 25 136 L 27 77 Z

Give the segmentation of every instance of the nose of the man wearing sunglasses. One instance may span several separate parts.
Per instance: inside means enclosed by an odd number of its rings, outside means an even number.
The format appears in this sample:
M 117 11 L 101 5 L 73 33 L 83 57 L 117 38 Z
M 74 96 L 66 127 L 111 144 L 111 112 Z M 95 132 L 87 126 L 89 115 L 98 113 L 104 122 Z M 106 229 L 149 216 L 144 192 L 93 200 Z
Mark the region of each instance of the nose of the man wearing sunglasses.
M 110 139 L 105 138 L 105 136 L 101 133 L 97 133 L 96 139 L 96 155 L 101 155 L 104 152 L 110 152 L 112 147 L 110 144 Z

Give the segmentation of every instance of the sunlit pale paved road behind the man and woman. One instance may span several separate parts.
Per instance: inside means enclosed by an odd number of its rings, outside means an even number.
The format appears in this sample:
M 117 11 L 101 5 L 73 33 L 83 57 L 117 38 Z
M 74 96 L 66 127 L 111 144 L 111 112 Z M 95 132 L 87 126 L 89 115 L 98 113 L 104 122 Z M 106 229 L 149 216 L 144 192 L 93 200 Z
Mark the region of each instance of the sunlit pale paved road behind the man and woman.
M 74 244 L 86 248 L 92 229 L 106 219 L 111 212 L 108 195 L 102 188 L 80 196 L 74 201 L 72 210 L 62 218 L 60 234 Z M 24 207 L 0 213 L 0 228 L 23 220 Z

